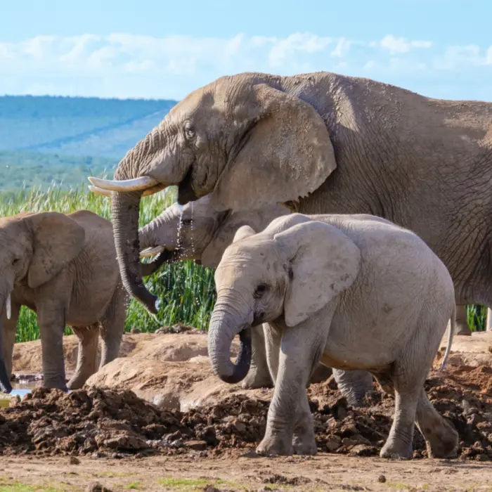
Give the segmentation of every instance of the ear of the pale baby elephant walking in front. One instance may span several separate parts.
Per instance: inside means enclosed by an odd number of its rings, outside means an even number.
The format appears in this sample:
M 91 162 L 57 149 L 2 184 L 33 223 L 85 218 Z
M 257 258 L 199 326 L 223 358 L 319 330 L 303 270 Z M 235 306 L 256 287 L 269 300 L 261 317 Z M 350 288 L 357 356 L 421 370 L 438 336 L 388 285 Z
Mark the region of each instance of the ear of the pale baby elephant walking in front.
M 287 326 L 306 321 L 354 283 L 361 252 L 336 227 L 320 221 L 304 222 L 273 239 L 287 255 L 292 271 L 284 300 Z

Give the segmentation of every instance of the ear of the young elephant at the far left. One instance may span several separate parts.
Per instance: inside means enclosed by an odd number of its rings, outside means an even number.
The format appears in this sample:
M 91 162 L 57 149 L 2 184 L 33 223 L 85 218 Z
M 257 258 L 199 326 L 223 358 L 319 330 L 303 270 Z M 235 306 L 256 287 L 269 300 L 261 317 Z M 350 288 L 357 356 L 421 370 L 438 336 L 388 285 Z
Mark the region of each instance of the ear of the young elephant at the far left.
M 85 231 L 65 214 L 41 212 L 27 217 L 32 229 L 32 259 L 27 284 L 43 285 L 84 248 Z

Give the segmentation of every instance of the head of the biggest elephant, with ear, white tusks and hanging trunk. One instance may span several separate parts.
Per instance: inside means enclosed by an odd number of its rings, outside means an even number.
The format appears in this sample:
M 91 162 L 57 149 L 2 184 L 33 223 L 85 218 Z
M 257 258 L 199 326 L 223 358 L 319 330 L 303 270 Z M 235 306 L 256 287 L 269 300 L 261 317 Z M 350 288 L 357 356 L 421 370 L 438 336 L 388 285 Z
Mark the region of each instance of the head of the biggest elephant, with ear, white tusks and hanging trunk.
M 323 118 L 291 85 L 266 74 L 221 77 L 174 106 L 119 162 L 114 181 L 89 178 L 93 190 L 112 192 L 122 280 L 150 312 L 157 297 L 143 285 L 138 257 L 143 195 L 177 185 L 180 205 L 213 192 L 216 211 L 259 209 L 308 195 L 335 169 Z

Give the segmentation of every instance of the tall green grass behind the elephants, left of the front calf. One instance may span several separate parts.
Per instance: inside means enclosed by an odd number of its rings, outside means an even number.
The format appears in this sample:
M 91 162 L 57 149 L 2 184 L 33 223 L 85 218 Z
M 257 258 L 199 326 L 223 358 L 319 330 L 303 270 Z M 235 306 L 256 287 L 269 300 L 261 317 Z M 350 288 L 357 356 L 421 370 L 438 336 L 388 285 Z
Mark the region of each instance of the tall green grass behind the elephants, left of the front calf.
M 140 225 L 148 224 L 175 201 L 174 188 L 143 198 Z M 45 192 L 22 189 L 15 195 L 0 197 L 0 216 L 41 211 L 70 214 L 81 209 L 91 210 L 110 219 L 110 199 L 94 195 L 86 186 L 68 191 L 54 186 Z M 131 299 L 127 311 L 127 330 L 138 328 L 143 332 L 151 332 L 163 325 L 175 323 L 207 328 L 216 298 L 212 270 L 196 265 L 193 261 L 164 265 L 146 279 L 146 285 L 161 299 L 162 308 L 156 316 L 151 316 L 140 303 Z M 65 330 L 67 334 L 70 332 L 69 328 Z M 16 341 L 27 342 L 38 338 L 36 315 L 22 307 Z

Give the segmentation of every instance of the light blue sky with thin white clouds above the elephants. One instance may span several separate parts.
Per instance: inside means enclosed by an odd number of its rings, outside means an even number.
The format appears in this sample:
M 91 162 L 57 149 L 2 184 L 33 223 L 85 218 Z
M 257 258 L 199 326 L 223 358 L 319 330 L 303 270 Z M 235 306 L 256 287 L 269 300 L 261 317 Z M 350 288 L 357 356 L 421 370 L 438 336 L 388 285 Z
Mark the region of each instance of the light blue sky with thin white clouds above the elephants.
M 0 0 L 0 94 L 179 100 L 327 70 L 492 101 L 488 0 Z

